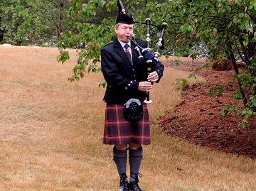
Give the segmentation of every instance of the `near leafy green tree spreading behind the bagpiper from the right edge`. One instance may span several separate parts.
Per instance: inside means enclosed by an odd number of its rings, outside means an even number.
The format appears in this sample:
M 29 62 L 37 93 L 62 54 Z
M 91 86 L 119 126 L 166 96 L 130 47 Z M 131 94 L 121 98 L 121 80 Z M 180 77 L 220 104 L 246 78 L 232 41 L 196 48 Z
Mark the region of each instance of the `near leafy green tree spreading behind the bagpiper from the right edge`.
M 98 9 L 114 12 L 117 15 L 117 1 L 87 1 L 82 4 L 79 0 L 72 0 L 68 16 L 70 25 L 75 28 L 75 33 L 66 31 L 63 40 L 60 40 L 60 55 L 58 60 L 65 62 L 69 58 L 66 48 L 75 48 L 83 43 L 85 48 L 78 50 L 78 63 L 74 67 L 73 77 L 70 81 L 79 80 L 84 76 L 85 67 L 89 60 L 87 71 L 98 72 L 100 67 L 100 49 L 114 39 L 114 18 L 112 14 L 102 18 L 101 23 L 80 23 L 75 16 L 97 15 Z M 245 0 L 172 0 L 172 1 L 124 1 L 128 13 L 134 14 L 135 21 L 144 22 L 146 17 L 151 18 L 152 24 L 161 26 L 162 22 L 168 23 L 165 35 L 165 51 L 162 55 L 190 55 L 196 59 L 201 55 L 201 50 L 207 51 L 208 61 L 218 58 L 230 58 L 235 68 L 234 80 L 238 80 L 240 92 L 235 92 L 233 98 L 243 101 L 243 106 L 226 106 L 223 114 L 236 111 L 236 114 L 245 116 L 243 126 L 250 116 L 256 113 L 256 77 L 255 77 L 255 24 L 256 1 Z M 139 8 L 139 9 L 138 9 Z M 134 31 L 139 38 L 146 39 L 145 26 L 137 26 Z M 151 47 L 159 35 L 159 28 L 152 28 Z M 238 70 L 235 58 L 240 58 L 246 63 L 243 70 Z M 206 65 L 207 66 L 207 65 Z M 198 69 L 199 70 L 199 69 Z M 194 76 L 194 75 L 191 75 Z M 185 80 L 184 80 L 185 81 Z M 225 86 L 228 88 L 228 85 Z M 221 94 L 224 87 L 215 87 Z M 250 124 L 250 123 L 249 123 Z

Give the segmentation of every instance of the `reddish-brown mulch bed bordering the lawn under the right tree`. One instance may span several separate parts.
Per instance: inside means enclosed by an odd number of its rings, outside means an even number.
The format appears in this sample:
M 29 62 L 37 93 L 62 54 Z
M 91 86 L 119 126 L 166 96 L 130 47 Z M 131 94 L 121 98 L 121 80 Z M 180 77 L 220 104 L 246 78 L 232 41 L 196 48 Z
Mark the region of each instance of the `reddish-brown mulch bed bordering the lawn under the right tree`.
M 165 63 L 167 67 L 176 70 L 193 72 L 203 62 L 180 62 L 179 67 Z M 181 138 L 189 143 L 199 146 L 207 146 L 215 151 L 244 155 L 256 158 L 256 122 L 251 121 L 250 127 L 238 126 L 241 117 L 231 113 L 222 116 L 220 111 L 225 104 L 238 105 L 232 94 L 238 90 L 238 84 L 223 92 L 223 96 L 208 97 L 208 91 L 215 84 L 228 84 L 235 74 L 233 70 L 215 71 L 212 68 L 196 72 L 196 75 L 204 77 L 206 84 L 195 84 L 182 91 L 182 102 L 175 111 L 161 116 L 159 125 L 169 136 Z M 256 118 L 255 118 L 256 119 Z

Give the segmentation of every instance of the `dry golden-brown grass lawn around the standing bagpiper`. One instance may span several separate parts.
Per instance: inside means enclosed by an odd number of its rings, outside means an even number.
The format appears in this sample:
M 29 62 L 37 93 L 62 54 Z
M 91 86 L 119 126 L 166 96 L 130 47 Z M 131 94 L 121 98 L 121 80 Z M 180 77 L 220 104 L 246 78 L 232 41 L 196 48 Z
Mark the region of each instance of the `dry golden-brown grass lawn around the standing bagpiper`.
M 56 48 L 0 46 L 0 190 L 117 190 L 112 146 L 102 144 L 103 77 L 70 83 L 75 51 L 64 65 L 57 55 Z M 187 75 L 166 68 L 154 84 L 152 143 L 144 146 L 139 184 L 148 191 L 256 190 L 255 160 L 215 153 L 158 128 L 158 117 L 180 102 L 174 80 Z

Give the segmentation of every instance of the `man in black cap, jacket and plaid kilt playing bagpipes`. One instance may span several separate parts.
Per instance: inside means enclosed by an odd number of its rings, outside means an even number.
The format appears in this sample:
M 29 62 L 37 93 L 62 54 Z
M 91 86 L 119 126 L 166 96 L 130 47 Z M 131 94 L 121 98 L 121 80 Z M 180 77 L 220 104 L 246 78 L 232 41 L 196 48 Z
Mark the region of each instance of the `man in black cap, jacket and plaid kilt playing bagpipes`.
M 142 144 L 150 144 L 149 114 L 144 103 L 151 82 L 159 82 L 164 65 L 154 62 L 149 75 L 146 61 L 139 63 L 133 43 L 127 36 L 133 36 L 132 15 L 119 13 L 114 31 L 117 38 L 101 50 L 102 73 L 107 81 L 104 100 L 105 132 L 103 143 L 114 145 L 114 163 L 120 177 L 119 191 L 139 191 L 139 169 L 142 163 Z M 141 40 L 137 43 L 146 48 Z M 128 46 L 128 47 L 127 47 Z M 142 102 L 144 115 L 139 121 L 124 118 L 124 104 L 131 98 Z M 128 148 L 129 146 L 129 148 Z M 127 178 L 127 151 L 129 151 L 130 178 Z

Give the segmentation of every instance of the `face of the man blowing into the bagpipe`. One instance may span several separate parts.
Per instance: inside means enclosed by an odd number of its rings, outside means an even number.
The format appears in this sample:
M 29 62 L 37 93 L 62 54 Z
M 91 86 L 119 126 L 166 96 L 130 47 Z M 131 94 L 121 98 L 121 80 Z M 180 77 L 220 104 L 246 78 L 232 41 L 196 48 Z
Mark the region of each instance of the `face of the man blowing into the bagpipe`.
M 127 36 L 132 37 L 133 36 L 133 28 L 134 25 L 131 24 L 124 24 L 119 23 L 118 28 L 114 27 L 114 31 L 117 33 L 117 38 L 121 40 L 124 43 L 129 43 L 129 38 Z

